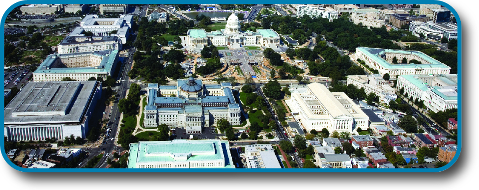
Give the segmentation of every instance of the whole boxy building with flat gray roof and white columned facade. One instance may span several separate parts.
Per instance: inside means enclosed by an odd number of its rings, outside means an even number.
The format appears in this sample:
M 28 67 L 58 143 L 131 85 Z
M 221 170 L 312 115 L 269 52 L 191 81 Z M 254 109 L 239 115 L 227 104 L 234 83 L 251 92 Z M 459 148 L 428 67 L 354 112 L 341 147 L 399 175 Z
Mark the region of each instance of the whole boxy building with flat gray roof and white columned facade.
M 100 97 L 98 81 L 28 82 L 4 109 L 3 133 L 9 141 L 85 138 Z

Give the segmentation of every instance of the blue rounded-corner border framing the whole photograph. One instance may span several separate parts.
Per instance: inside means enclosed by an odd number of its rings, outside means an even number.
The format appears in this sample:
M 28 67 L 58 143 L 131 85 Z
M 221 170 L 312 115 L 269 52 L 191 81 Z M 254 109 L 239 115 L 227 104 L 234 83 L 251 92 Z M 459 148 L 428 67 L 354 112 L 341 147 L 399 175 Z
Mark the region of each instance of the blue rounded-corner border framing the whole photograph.
M 107 2 L 105 0 L 100 0 L 103 2 Z M 301 0 L 300 2 L 297 3 L 327 3 L 331 2 L 332 0 Z M 27 169 L 23 168 L 20 166 L 17 166 L 13 164 L 5 154 L 5 147 L 3 140 L 0 142 L 0 150 L 1 150 L 1 155 L 6 163 L 10 165 L 12 168 L 21 171 L 21 172 L 238 172 L 238 173 L 244 173 L 244 172 L 441 172 L 444 171 L 448 168 L 450 168 L 458 159 L 461 150 L 462 150 L 462 24 L 461 20 L 459 18 L 459 15 L 457 12 L 454 10 L 454 8 L 451 7 L 446 2 L 443 1 L 438 1 L 438 0 L 335 0 L 335 3 L 340 3 L 340 4 L 356 4 L 359 2 L 363 2 L 365 4 L 379 4 L 379 3 L 384 3 L 388 2 L 392 4 L 392 2 L 400 2 L 401 4 L 404 3 L 409 3 L 409 4 L 440 4 L 442 6 L 445 6 L 451 12 L 454 14 L 454 17 L 456 18 L 457 21 L 457 33 L 458 33 L 458 38 L 457 38 L 457 74 L 458 74 L 458 128 L 457 128 L 457 152 L 454 156 L 454 158 L 451 160 L 450 163 L 447 165 L 440 167 L 440 168 L 427 168 L 427 169 L 411 169 L 411 168 L 395 168 L 395 169 L 213 169 L 213 168 L 204 168 L 204 169 L 197 169 L 197 168 L 189 168 L 189 169 L 155 169 L 155 168 L 115 168 L 115 169 L 101 169 L 101 168 L 85 168 L 85 169 L 76 169 L 76 168 L 52 168 L 52 169 Z M 6 10 L 5 13 L 3 13 L 3 16 L 1 18 L 1 29 L 4 29 L 5 25 L 5 19 L 15 7 L 23 5 L 23 4 L 44 4 L 44 3 L 49 3 L 49 4 L 63 4 L 65 1 L 63 0 L 23 0 L 14 3 L 8 9 Z M 87 4 L 98 4 L 98 0 L 71 0 L 69 3 L 87 3 Z M 182 0 L 181 1 L 184 4 L 194 4 L 198 3 L 197 0 Z M 204 0 L 201 1 L 204 3 L 224 3 L 223 0 Z M 291 0 L 260 0 L 261 3 L 264 4 L 288 4 L 288 2 L 291 2 Z M 128 0 L 116 0 L 115 3 L 124 3 L 124 4 L 132 4 L 131 1 Z M 171 2 L 166 2 L 166 1 L 156 1 L 156 0 L 141 0 L 142 4 L 169 4 Z M 242 0 L 242 3 L 244 4 L 257 4 L 257 0 Z M 0 37 L 1 41 L 4 41 L 4 35 L 1 35 Z M 4 51 L 3 51 L 3 46 L 0 47 L 0 58 L 1 60 L 4 59 Z M 1 102 L 1 105 L 3 105 L 3 101 Z M 1 113 L 3 113 L 3 109 L 1 110 Z M 3 123 L 3 117 L 0 118 L 0 122 Z M 3 125 L 3 124 L 2 124 Z M 3 130 L 1 130 L 1 133 L 3 134 Z M 4 134 L 3 134 L 4 135 Z

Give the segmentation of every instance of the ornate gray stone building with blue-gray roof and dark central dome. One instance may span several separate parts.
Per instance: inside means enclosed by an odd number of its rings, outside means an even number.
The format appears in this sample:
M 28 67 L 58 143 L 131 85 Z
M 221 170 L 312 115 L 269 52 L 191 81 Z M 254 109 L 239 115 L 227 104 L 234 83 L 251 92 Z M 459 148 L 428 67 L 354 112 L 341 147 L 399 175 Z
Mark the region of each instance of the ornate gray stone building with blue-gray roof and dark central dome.
M 226 119 L 241 124 L 241 111 L 231 83 L 203 84 L 193 77 L 178 79 L 177 86 L 149 83 L 143 127 L 184 127 L 188 134 L 201 133 L 203 126 Z

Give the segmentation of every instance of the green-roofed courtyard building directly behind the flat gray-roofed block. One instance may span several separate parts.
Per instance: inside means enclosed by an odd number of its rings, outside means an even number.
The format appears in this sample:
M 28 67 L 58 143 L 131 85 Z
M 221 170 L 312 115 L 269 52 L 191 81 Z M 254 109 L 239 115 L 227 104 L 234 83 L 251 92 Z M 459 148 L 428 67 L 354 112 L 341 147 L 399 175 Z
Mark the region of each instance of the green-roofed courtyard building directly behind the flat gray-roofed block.
M 118 50 L 50 54 L 33 72 L 33 81 L 61 81 L 65 77 L 88 81 L 90 77 L 113 76 L 119 62 Z

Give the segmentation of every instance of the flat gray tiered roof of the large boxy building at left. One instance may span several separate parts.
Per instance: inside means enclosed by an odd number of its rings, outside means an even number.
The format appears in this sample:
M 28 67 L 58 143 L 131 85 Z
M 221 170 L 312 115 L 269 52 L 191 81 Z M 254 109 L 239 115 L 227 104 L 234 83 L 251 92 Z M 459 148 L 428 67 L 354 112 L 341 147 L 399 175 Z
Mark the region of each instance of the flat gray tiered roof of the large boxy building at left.
M 4 109 L 4 124 L 78 123 L 96 81 L 28 82 Z

